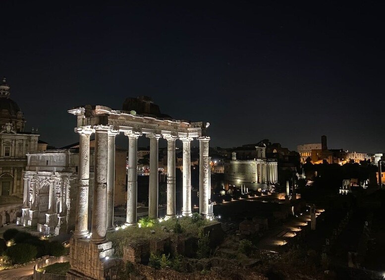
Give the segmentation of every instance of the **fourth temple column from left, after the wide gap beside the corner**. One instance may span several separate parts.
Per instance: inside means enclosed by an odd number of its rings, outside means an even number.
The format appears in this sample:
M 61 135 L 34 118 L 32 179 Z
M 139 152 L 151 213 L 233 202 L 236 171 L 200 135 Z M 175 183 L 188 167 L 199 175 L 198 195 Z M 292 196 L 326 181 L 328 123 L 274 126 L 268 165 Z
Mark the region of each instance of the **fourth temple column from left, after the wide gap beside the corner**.
M 139 133 L 125 133 L 128 136 L 127 170 L 127 215 L 126 225 L 136 224 L 138 201 L 138 137 Z

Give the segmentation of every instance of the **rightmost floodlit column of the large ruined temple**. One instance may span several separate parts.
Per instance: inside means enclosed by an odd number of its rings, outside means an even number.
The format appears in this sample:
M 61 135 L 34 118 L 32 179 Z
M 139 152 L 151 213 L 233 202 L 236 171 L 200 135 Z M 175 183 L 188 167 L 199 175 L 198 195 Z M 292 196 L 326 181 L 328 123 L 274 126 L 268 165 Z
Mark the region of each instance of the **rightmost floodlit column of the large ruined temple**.
M 199 137 L 199 212 L 209 216 L 209 141 L 210 137 Z

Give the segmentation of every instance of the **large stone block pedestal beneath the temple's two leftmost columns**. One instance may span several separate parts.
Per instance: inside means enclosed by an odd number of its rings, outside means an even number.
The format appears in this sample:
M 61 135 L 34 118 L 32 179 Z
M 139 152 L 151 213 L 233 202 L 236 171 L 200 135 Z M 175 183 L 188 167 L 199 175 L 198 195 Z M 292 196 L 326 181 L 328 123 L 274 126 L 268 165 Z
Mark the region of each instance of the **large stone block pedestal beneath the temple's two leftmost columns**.
M 71 270 L 67 273 L 66 279 L 115 279 L 110 270 L 114 260 L 106 260 L 106 257 L 112 256 L 113 253 L 110 241 L 96 244 L 89 239 L 71 238 L 69 255 Z

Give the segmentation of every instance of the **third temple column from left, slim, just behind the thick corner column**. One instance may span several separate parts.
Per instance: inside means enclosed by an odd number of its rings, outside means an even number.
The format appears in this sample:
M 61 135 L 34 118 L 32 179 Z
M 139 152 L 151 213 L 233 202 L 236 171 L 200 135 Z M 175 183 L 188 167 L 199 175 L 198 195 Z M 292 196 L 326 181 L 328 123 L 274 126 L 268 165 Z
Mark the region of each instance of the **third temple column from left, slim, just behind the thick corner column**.
M 107 229 L 113 229 L 113 196 L 115 186 L 115 136 L 117 130 L 108 132 L 108 168 L 107 168 Z

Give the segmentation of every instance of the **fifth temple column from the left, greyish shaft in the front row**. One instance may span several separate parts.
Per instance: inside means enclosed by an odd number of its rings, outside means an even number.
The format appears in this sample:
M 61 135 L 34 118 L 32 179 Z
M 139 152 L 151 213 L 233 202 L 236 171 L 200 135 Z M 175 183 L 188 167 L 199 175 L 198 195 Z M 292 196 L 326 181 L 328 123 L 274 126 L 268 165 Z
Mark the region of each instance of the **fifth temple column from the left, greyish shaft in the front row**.
M 150 138 L 150 185 L 148 215 L 152 219 L 158 218 L 158 140 L 160 134 L 147 134 Z

